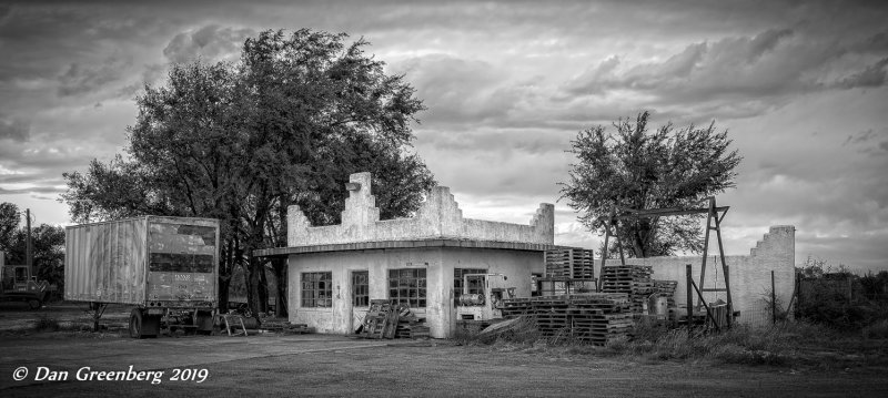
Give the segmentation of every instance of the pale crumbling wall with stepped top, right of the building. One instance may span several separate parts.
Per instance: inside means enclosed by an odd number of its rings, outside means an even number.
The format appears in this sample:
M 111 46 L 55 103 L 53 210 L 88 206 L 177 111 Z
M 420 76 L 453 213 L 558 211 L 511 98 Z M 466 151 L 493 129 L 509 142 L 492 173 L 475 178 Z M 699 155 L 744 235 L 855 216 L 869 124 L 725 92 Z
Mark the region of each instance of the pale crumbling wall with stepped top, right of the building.
M 791 225 L 771 226 L 769 232 L 749 251 L 749 255 L 725 256 L 728 265 L 731 300 L 734 309 L 740 310 L 740 322 L 749 320 L 751 317 L 761 316 L 766 313 L 767 306 L 765 298 L 770 299 L 770 272 L 774 271 L 775 292 L 778 305 L 784 309 L 789 305 L 793 289 L 795 287 L 795 253 L 796 253 L 796 228 Z M 710 244 L 710 253 L 718 251 L 718 247 Z M 627 264 L 650 265 L 653 267 L 652 278 L 677 280 L 678 287 L 675 290 L 675 302 L 683 306 L 687 302 L 686 266 L 692 265 L 692 275 L 695 283 L 699 283 L 700 256 L 682 257 L 649 257 L 649 258 L 627 258 Z M 608 265 L 619 265 L 619 259 L 608 259 Z M 595 262 L 595 275 L 601 275 L 601 259 Z M 705 287 L 724 287 L 725 275 L 717 255 L 710 255 L 706 259 L 706 280 Z M 696 293 L 694 303 L 697 302 Z M 726 299 L 723 292 L 704 293 L 707 303 L 716 299 Z

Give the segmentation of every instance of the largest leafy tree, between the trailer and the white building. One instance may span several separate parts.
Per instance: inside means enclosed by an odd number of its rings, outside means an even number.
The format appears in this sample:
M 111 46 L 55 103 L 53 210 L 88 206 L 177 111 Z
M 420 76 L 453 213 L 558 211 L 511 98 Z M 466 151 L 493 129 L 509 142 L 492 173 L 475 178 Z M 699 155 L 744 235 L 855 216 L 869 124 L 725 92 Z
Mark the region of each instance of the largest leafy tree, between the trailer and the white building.
M 367 42 L 345 38 L 264 31 L 246 40 L 238 63 L 172 65 L 165 85 L 137 99 L 128 159 L 65 174 L 72 218 L 219 218 L 220 305 L 243 266 L 251 307 L 264 312 L 266 259 L 252 252 L 285 245 L 287 206 L 299 204 L 315 224 L 335 223 L 349 174 L 370 171 L 379 192 L 400 195 L 382 195 L 383 215 L 403 216 L 434 184 L 406 152 L 422 102 L 403 76 L 364 54 Z M 272 264 L 278 280 L 283 264 Z

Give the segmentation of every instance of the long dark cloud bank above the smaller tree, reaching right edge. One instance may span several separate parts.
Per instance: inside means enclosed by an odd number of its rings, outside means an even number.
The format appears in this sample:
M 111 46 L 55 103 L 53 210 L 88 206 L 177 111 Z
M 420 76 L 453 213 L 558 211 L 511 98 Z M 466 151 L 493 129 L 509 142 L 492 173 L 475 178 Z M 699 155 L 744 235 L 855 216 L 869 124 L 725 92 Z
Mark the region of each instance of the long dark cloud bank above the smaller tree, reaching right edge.
M 854 47 L 868 52 L 880 45 L 881 38 L 872 37 Z M 771 29 L 751 37 L 694 42 L 663 61 L 630 64 L 612 55 L 566 82 L 561 99 L 628 91 L 650 95 L 653 104 L 741 118 L 768 111 L 790 95 L 829 86 L 885 84 L 888 59 L 838 81 L 824 81 L 827 76 L 821 71 L 847 54 L 841 45 Z

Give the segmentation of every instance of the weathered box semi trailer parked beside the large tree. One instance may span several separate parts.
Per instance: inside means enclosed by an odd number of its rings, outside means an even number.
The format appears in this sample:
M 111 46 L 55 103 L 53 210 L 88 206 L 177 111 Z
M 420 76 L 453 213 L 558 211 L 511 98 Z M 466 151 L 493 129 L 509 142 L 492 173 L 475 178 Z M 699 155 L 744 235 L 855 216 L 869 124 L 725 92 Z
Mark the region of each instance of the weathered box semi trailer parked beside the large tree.
M 212 331 L 218 310 L 219 221 L 143 216 L 65 228 L 64 299 L 95 322 L 108 304 L 130 305 L 133 338 L 161 329 Z

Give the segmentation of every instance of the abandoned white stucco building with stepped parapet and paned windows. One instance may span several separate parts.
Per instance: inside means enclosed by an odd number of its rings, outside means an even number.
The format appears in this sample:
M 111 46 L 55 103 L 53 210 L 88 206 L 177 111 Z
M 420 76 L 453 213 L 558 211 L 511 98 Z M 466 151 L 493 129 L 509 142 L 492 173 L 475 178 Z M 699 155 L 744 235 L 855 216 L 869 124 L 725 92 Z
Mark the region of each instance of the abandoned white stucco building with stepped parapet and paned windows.
M 371 299 L 390 299 L 445 338 L 455 329 L 463 274 L 504 274 L 517 297 L 531 296 L 531 274 L 543 272 L 554 246 L 552 204 L 541 204 L 529 225 L 463 218 L 450 188 L 437 186 L 414 217 L 380 221 L 371 188 L 370 173 L 350 176 L 341 225 L 311 226 L 291 206 L 287 247 L 262 251 L 287 256 L 291 323 L 349 334 Z

